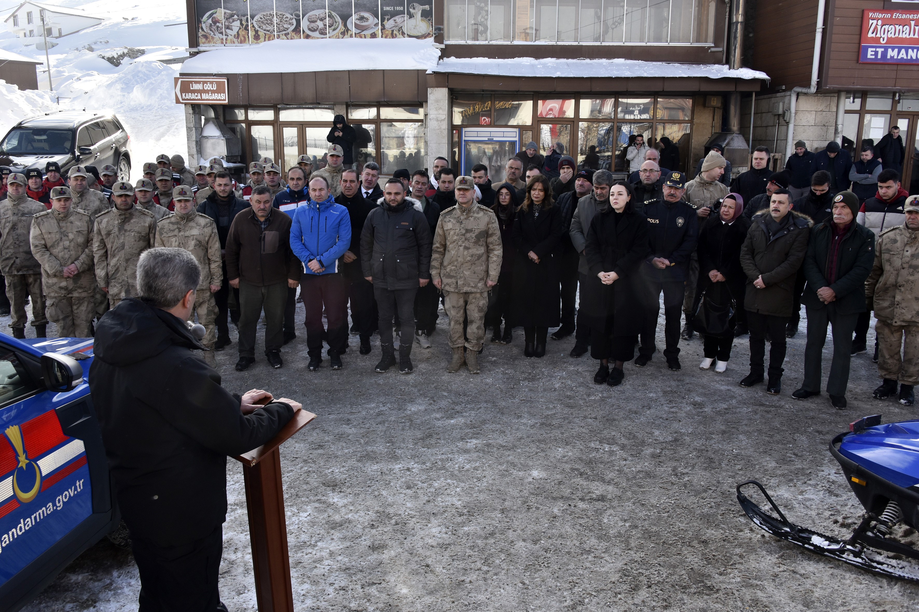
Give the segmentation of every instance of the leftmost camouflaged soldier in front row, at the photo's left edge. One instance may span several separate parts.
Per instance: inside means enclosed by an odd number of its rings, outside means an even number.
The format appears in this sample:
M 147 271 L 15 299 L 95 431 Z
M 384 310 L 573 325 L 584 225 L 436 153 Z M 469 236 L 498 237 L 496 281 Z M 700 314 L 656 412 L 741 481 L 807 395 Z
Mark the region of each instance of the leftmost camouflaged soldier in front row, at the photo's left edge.
M 6 187 L 6 200 L 0 202 L 0 273 L 6 279 L 12 314 L 9 327 L 13 338 L 26 337 L 26 299 L 31 296 L 32 327 L 36 338 L 45 338 L 48 319 L 41 294 L 41 266 L 32 256 L 28 231 L 32 217 L 48 209 L 26 195 L 26 177 L 22 174 L 10 174 Z

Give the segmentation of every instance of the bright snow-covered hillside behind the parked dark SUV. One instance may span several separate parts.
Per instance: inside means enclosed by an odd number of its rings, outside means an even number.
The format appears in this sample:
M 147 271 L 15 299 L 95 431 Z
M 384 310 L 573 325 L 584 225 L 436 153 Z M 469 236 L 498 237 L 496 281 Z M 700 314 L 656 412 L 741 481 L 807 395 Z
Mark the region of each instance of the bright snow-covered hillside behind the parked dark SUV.
M 18 4 L 0 2 L 0 21 Z M 59 0 L 55 4 L 80 8 L 87 15 L 106 20 L 95 28 L 55 40 L 58 46 L 49 51 L 53 93 L 48 91 L 45 52 L 35 48 L 41 39 L 17 39 L 0 26 L 0 49 L 42 62 L 40 91 L 19 91 L 15 85 L 0 81 L 0 137 L 24 117 L 58 108 L 85 108 L 113 112 L 124 123 L 133 153 L 132 180 L 140 177 L 142 163 L 153 161 L 159 153 L 180 153 L 187 158 L 185 119 L 173 93 L 173 77 L 181 64 L 160 61 L 187 55 L 186 26 L 169 26 L 185 22 L 185 3 L 162 0 L 154 5 L 130 5 L 129 0 L 113 5 L 108 0 Z M 134 60 L 124 58 L 119 66 L 102 58 L 126 47 L 145 52 Z

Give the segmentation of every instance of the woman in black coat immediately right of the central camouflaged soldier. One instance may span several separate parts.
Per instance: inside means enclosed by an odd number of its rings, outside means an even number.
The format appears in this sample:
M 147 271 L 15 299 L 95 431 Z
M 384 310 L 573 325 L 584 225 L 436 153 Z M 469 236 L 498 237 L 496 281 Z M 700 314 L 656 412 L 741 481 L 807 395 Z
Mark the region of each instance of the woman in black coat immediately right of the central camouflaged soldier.
M 494 194 L 494 216 L 498 217 L 498 228 L 501 231 L 501 245 L 503 257 L 501 259 L 501 273 L 498 274 L 498 284 L 492 287 L 492 294 L 488 300 L 488 312 L 485 313 L 485 327 L 494 328 L 493 342 L 510 344 L 513 339 L 511 328 L 511 296 L 514 278 L 514 261 L 516 249 L 514 248 L 514 218 L 520 201 L 516 196 L 516 187 L 510 183 L 502 184 Z M 501 333 L 501 319 L 505 320 L 505 333 Z

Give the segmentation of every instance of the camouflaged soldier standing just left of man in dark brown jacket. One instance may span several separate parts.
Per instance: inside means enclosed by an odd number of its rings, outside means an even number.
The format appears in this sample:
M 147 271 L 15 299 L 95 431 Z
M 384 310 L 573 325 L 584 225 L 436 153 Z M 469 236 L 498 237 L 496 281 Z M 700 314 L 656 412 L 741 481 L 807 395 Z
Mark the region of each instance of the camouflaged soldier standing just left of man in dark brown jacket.
M 217 368 L 214 359 L 214 342 L 217 341 L 217 303 L 214 294 L 223 284 L 221 239 L 217 224 L 207 215 L 195 211 L 191 188 L 179 185 L 173 190 L 176 212 L 165 217 L 156 227 L 156 246 L 185 249 L 195 256 L 201 266 L 201 280 L 195 292 L 195 309 L 189 320 L 198 313 L 198 321 L 207 330 L 201 343 L 208 351 L 204 359 L 210 367 Z

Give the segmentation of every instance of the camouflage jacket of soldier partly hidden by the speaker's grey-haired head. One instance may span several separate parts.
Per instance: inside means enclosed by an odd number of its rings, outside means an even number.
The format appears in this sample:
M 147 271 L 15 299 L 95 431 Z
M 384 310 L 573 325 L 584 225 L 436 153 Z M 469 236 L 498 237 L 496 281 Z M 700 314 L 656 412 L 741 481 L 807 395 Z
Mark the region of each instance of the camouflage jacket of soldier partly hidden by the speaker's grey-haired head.
M 156 226 L 156 246 L 185 249 L 195 256 L 201 266 L 198 288 L 223 283 L 221 239 L 217 225 L 207 215 L 192 211 L 187 215 L 172 213 Z

